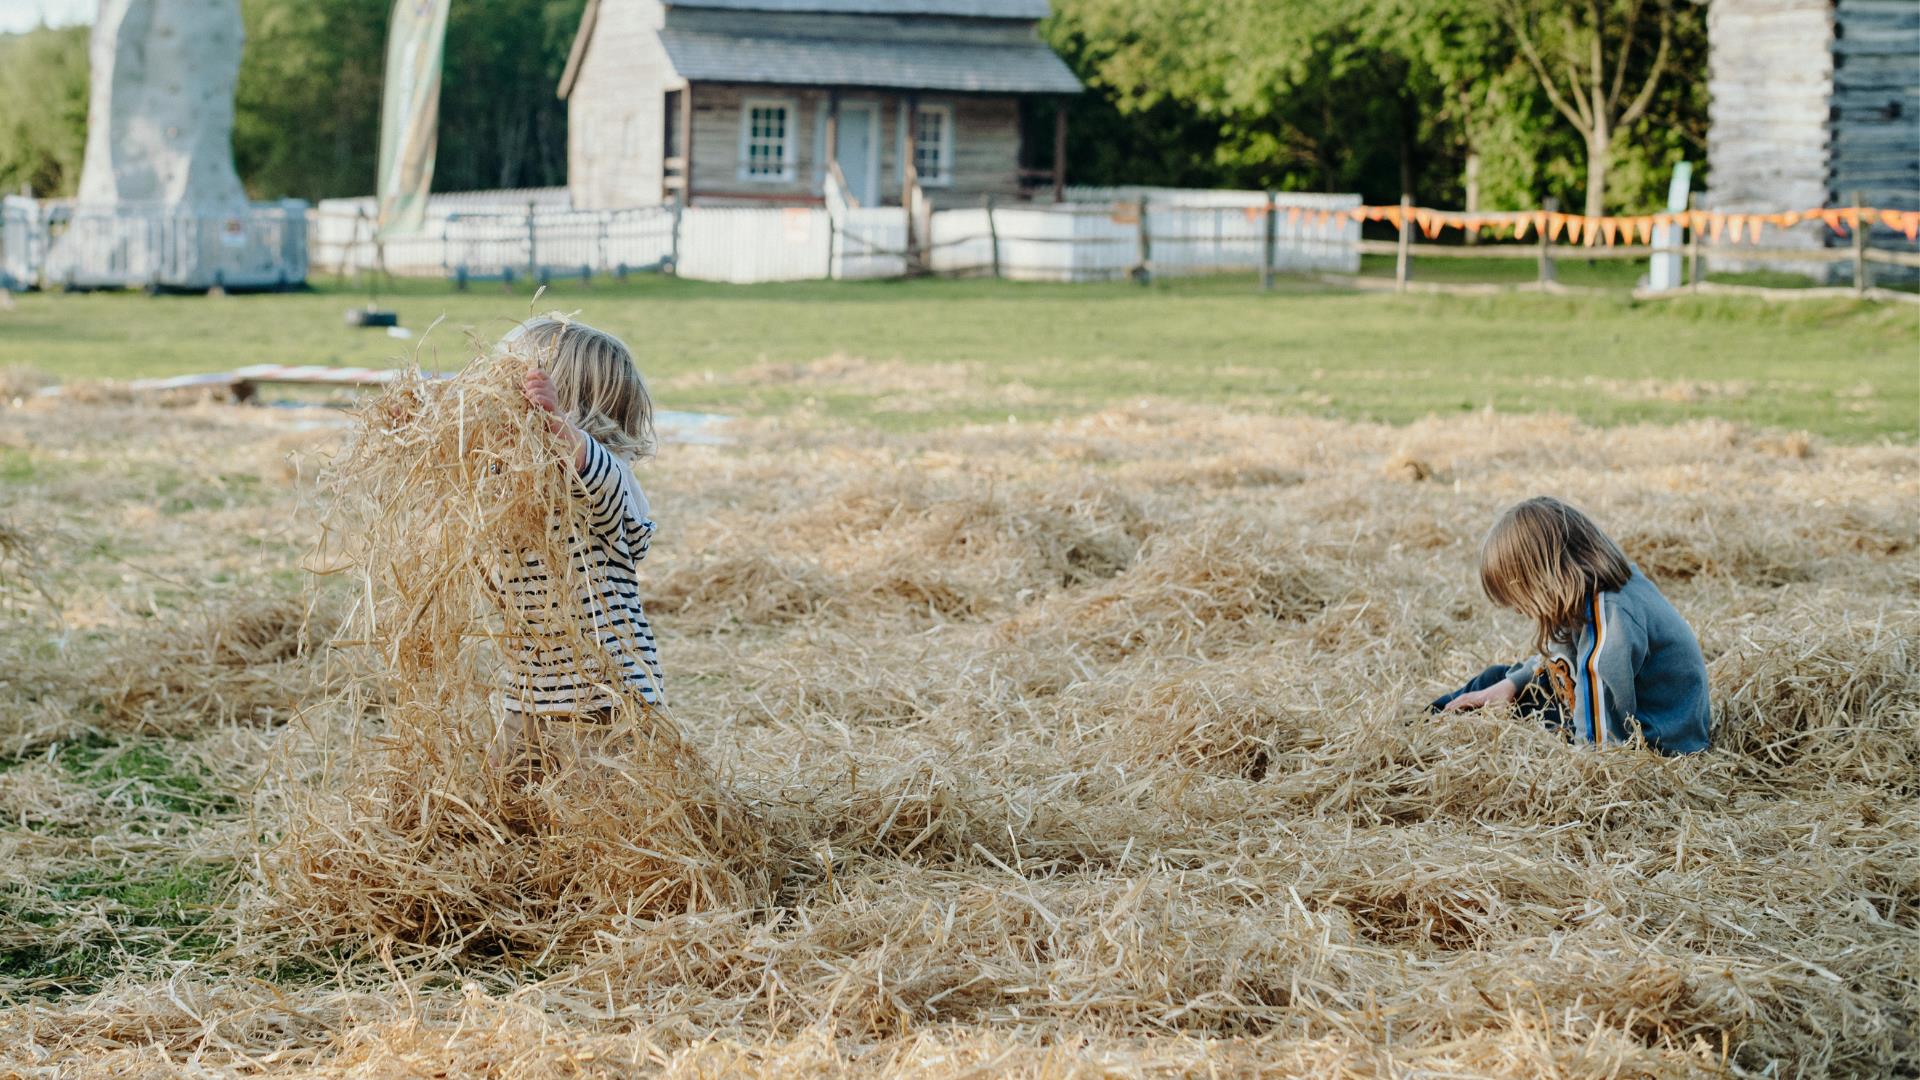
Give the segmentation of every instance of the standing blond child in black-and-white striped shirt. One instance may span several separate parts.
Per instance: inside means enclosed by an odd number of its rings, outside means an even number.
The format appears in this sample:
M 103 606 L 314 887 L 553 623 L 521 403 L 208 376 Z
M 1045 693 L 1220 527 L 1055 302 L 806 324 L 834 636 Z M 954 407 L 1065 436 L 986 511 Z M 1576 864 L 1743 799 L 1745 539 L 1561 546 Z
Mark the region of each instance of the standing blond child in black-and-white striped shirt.
M 499 348 L 534 361 L 522 392 L 572 448 L 572 494 L 586 509 L 586 528 L 566 538 L 568 596 L 553 594 L 549 567 L 532 552 L 501 580 L 513 609 L 501 690 L 526 744 L 538 744 L 543 719 L 607 721 L 626 705 L 664 701 L 639 601 L 653 517 L 632 469 L 653 452 L 653 400 L 626 344 L 584 323 L 528 319 Z

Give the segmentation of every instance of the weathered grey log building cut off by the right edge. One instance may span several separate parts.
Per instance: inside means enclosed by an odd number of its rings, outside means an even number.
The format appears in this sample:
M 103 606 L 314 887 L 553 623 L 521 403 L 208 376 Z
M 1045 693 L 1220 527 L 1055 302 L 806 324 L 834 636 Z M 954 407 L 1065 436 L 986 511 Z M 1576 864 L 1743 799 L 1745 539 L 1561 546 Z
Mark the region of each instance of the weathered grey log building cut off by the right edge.
M 1920 209 L 1920 2 L 1715 0 L 1707 38 L 1707 206 L 1768 213 L 1859 196 Z M 1847 242 L 1822 225 L 1788 236 Z M 1912 250 L 1885 227 L 1870 242 Z M 1807 269 L 1826 273 L 1824 263 Z

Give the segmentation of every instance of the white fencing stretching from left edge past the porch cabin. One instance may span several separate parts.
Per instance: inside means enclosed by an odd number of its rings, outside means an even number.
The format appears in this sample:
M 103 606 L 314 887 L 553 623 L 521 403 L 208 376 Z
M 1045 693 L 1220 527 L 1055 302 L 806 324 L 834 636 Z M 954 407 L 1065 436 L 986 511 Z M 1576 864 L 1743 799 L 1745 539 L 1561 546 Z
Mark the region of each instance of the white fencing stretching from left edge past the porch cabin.
M 307 229 L 294 233 L 301 234 L 300 258 L 311 259 L 315 273 L 384 269 L 463 284 L 653 269 L 737 284 L 891 279 L 914 269 L 1077 282 L 1258 271 L 1269 265 L 1267 200 L 1265 192 L 1068 188 L 1064 204 L 937 209 L 924 219 L 929 233 L 922 238 L 924 250 L 912 256 L 904 209 L 854 208 L 833 198 L 826 208 L 649 206 L 586 211 L 566 206 L 564 188 L 451 192 L 430 200 L 419 234 L 380 244 L 372 238 L 371 198 L 323 200 L 305 215 Z M 1340 194 L 1273 196 L 1271 267 L 1357 271 L 1356 221 L 1286 213 L 1288 208 L 1346 209 L 1357 204 L 1359 196 Z M 150 284 L 152 267 L 169 244 L 213 244 L 215 254 L 267 244 L 265 238 L 255 242 L 252 223 L 248 236 L 236 244 L 230 221 L 202 234 L 75 219 L 67 225 L 69 233 L 100 233 L 86 242 L 86 250 L 94 252 L 94 269 L 75 275 L 58 252 L 48 258 L 46 217 L 48 204 L 31 200 L 10 198 L 0 208 L 0 286 L 8 281 L 13 288 L 63 281 L 81 286 Z M 275 242 L 290 254 L 290 238 Z M 259 273 L 225 284 L 275 284 L 273 277 L 255 279 Z

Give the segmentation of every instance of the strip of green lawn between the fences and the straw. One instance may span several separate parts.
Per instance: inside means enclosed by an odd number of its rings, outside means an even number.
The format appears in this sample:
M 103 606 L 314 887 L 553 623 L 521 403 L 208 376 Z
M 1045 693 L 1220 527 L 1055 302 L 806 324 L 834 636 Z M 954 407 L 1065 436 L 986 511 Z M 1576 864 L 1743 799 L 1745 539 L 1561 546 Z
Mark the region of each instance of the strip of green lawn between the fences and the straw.
M 1572 263 L 1563 281 L 1574 282 Z M 1438 271 L 1440 259 L 1430 259 Z M 1421 267 L 1423 273 L 1428 267 Z M 1526 267 L 1530 273 L 1530 267 Z M 1619 263 L 1594 263 L 1613 273 Z M 1630 284 L 1630 282 L 1628 282 Z M 363 294 L 27 294 L 0 313 L 0 367 L 58 379 L 242 363 L 459 363 L 530 307 L 580 311 L 634 344 L 662 407 L 808 409 L 883 427 L 1044 419 L 1137 398 L 1411 421 L 1492 405 L 1592 423 L 1716 415 L 1843 440 L 1912 442 L 1920 309 L 1745 298 L 1379 296 L 1306 281 L 989 281 L 722 286 L 674 279 L 528 288 L 399 282 L 384 304 L 424 338 L 348 329 Z M 756 365 L 845 356 L 893 373 L 768 379 Z M 910 375 L 929 365 L 925 386 Z M 908 375 L 900 375 L 900 369 Z

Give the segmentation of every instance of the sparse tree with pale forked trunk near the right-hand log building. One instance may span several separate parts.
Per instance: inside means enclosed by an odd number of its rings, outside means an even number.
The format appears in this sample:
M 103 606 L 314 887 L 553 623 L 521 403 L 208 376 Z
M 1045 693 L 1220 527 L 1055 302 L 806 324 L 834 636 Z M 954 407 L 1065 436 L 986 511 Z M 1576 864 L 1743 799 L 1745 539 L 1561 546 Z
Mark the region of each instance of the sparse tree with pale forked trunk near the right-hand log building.
M 1613 140 L 1647 113 L 1667 73 L 1674 38 L 1672 0 L 1655 0 L 1659 42 L 1653 60 L 1638 69 L 1634 60 L 1636 44 L 1644 44 L 1645 0 L 1496 4 L 1540 88 L 1586 144 L 1586 213 L 1597 217 L 1607 211 Z M 1638 88 L 1626 96 L 1630 85 Z

